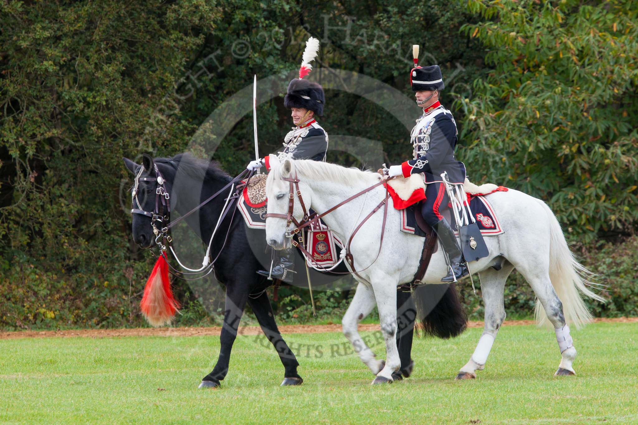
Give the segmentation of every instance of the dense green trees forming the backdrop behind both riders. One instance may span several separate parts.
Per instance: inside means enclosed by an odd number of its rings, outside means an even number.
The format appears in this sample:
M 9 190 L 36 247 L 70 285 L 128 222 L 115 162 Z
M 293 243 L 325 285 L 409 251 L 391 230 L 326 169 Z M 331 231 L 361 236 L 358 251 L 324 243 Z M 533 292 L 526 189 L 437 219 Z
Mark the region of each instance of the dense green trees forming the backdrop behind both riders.
M 575 234 L 627 231 L 638 192 L 635 6 L 606 4 L 1 2 L 0 326 L 140 324 L 152 259 L 131 241 L 122 156 L 211 155 L 197 148 L 223 123 L 207 117 L 254 74 L 285 88 L 309 36 L 322 41 L 315 78 L 354 71 L 408 99 L 419 43 L 421 63 L 443 69 L 443 103 L 456 101 L 459 156 L 474 180 L 550 201 Z M 388 164 L 410 155 L 408 130 L 386 110 L 347 87 L 326 94 L 321 124 L 331 136 L 381 141 Z M 420 113 L 410 101 L 406 111 Z M 281 91 L 259 106 L 262 154 L 281 147 L 288 114 Z M 248 114 L 212 140 L 212 156 L 238 173 L 252 134 Z M 361 165 L 337 149 L 329 159 Z M 193 287 L 174 284 L 193 306 L 184 323 L 198 321 Z M 291 289 L 282 310 L 304 304 L 295 294 L 307 296 Z M 319 298 L 326 309 L 343 303 Z

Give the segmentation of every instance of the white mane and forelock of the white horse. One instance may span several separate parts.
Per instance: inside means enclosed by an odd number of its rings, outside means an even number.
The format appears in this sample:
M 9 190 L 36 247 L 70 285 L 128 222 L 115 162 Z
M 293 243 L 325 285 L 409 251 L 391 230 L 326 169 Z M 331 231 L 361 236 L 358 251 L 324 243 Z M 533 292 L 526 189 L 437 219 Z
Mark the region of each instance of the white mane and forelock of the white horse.
M 321 161 L 313 161 L 311 159 L 293 159 L 291 160 L 293 163 L 293 170 L 297 171 L 297 175 L 299 178 L 311 178 L 311 179 L 325 179 L 330 180 L 332 182 L 346 184 L 346 185 L 357 185 L 361 184 L 369 184 L 373 185 L 379 181 L 379 175 L 371 171 L 369 169 L 360 170 L 355 167 L 344 167 L 339 164 L 331 164 L 330 162 L 321 162 Z M 273 161 L 274 168 L 271 173 L 274 175 L 274 178 L 280 180 L 281 173 L 279 172 L 279 168 L 283 166 L 283 164 L 279 164 L 279 161 Z

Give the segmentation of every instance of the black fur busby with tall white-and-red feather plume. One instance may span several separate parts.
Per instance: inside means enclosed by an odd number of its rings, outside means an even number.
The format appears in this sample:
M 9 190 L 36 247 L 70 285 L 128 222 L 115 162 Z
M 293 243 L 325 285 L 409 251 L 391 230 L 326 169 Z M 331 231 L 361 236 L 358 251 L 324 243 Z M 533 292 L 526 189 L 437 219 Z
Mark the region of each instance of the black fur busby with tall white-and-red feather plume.
M 283 104 L 286 108 L 306 108 L 314 111 L 315 115 L 323 115 L 323 105 L 325 104 L 323 87 L 318 83 L 303 79 L 313 68 L 310 62 L 315 60 L 318 52 L 319 40 L 314 37 L 309 38 L 306 41 L 306 49 L 299 68 L 299 78 L 293 78 L 290 81 L 286 96 L 283 98 Z

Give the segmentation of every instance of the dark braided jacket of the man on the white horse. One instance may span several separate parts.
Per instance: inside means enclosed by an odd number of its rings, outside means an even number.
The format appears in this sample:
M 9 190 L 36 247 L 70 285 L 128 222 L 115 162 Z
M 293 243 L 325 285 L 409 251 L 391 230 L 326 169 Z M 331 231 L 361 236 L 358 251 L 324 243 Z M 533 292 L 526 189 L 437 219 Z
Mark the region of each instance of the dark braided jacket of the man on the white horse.
M 442 182 L 441 173 L 447 171 L 450 183 L 463 184 L 465 166 L 454 158 L 457 130 L 449 110 L 436 101 L 417 119 L 410 136 L 414 159 L 401 164 L 404 177 L 423 173 L 426 183 Z

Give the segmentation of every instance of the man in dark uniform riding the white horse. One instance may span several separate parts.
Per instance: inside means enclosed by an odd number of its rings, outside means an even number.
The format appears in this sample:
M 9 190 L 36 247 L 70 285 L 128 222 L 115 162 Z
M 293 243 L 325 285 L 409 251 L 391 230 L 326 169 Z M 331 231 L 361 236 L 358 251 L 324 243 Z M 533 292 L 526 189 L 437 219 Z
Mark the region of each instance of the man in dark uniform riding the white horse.
M 451 184 L 463 184 L 465 166 L 454 158 L 457 143 L 456 122 L 452 113 L 439 101 L 439 93 L 445 87 L 438 65 L 418 66 L 419 46 L 413 47 L 414 66 L 410 71 L 410 84 L 415 92 L 417 104 L 423 108 L 423 115 L 417 119 L 412 129 L 411 142 L 413 159 L 389 169 L 390 176 L 404 176 L 422 173 L 426 182 L 426 199 L 421 213 L 427 224 L 434 229 L 450 261 L 450 270 L 441 282 L 453 282 L 468 274 L 463 261 L 463 252 L 449 222 L 441 215 L 449 198 L 441 173 L 447 171 Z M 454 275 L 452 275 L 454 273 Z

